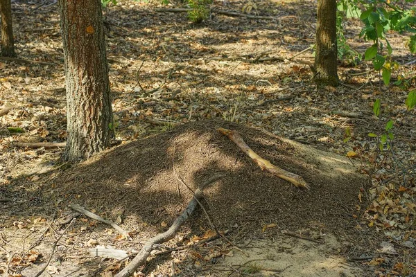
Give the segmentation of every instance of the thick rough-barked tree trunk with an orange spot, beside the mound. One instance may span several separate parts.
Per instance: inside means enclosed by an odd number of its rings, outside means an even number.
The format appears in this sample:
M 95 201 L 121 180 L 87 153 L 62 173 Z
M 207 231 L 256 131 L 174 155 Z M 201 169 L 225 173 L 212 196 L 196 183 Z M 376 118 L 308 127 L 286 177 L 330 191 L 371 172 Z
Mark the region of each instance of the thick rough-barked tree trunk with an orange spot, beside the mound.
M 114 139 L 100 0 L 59 0 L 67 90 L 64 159 L 79 161 Z

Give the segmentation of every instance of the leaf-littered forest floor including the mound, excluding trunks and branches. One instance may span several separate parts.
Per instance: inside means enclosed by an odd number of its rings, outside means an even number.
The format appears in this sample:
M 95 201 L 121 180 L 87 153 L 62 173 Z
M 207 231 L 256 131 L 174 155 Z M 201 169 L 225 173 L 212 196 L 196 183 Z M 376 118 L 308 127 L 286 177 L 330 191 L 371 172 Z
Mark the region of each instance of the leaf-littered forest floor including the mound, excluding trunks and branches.
M 0 114 L 13 107 L 0 116 L 0 274 L 35 276 L 51 257 L 42 276 L 112 276 L 128 260 L 90 249 L 135 253 L 192 198 L 180 178 L 196 188 L 219 172 L 204 203 L 232 244 L 214 240 L 198 211 L 137 276 L 416 276 L 416 113 L 404 105 L 416 86 L 416 57 L 406 35 L 388 39 L 401 64 L 392 81 L 403 76 L 407 87 L 385 87 L 371 64 L 347 61 L 339 63 L 339 87 L 316 87 L 306 50 L 315 1 L 255 2 L 251 15 L 276 19 L 218 12 L 250 3 L 214 1 L 201 24 L 156 10 L 179 2 L 105 8 L 121 145 L 71 165 L 60 161 L 60 148 L 17 145 L 64 142 L 66 102 L 56 2 L 12 1 L 21 60 L 0 58 Z M 370 43 L 358 38 L 360 28 L 345 22 L 348 44 L 363 53 Z M 368 134 L 385 134 L 390 119 L 392 147 L 381 151 Z M 311 190 L 262 172 L 217 126 L 238 131 Z M 120 224 L 131 240 L 68 204 Z

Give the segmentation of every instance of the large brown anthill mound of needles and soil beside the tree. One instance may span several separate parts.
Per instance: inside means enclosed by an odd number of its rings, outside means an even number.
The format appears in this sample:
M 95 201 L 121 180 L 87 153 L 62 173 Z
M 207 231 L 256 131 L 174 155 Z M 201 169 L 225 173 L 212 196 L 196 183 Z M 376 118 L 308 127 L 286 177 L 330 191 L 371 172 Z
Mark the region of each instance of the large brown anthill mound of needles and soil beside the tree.
M 261 171 L 216 127 L 239 132 L 254 152 L 302 176 L 311 190 L 294 188 Z M 51 179 L 55 189 L 49 193 L 61 201 L 65 197 L 64 204 L 78 203 L 112 220 L 123 211 L 125 218 L 135 218 L 135 226 L 126 229 L 140 229 L 148 224 L 171 224 L 187 206 L 192 193 L 177 177 L 195 189 L 219 173 L 224 177 L 205 189 L 205 198 L 211 219 L 220 229 L 248 224 L 254 227 L 252 231 L 256 226 L 261 231 L 263 224 L 270 223 L 293 230 L 347 229 L 354 224 L 359 188 L 369 184 L 347 159 L 336 154 L 261 129 L 208 120 L 105 152 Z M 191 226 L 196 226 L 203 224 L 205 216 L 192 219 Z

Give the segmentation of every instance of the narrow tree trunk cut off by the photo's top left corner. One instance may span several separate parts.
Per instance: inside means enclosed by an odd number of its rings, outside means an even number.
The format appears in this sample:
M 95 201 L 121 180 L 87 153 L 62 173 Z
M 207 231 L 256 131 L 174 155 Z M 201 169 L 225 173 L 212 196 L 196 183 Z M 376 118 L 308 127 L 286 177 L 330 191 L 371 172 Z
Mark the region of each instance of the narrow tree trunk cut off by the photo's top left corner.
M 15 42 L 13 39 L 12 6 L 10 0 L 0 0 L 1 12 L 1 55 L 15 57 Z

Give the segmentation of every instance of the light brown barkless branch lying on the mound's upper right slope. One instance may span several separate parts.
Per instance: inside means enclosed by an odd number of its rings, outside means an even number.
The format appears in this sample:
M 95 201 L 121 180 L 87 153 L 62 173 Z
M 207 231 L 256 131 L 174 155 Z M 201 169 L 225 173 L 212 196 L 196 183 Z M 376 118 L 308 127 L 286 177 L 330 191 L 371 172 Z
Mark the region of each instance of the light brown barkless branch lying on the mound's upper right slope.
M 268 170 L 268 172 L 272 173 L 273 175 L 276 175 L 281 179 L 285 179 L 286 181 L 291 182 L 297 188 L 306 188 L 309 190 L 309 185 L 306 184 L 306 181 L 304 181 L 302 177 L 300 177 L 299 175 L 295 175 L 292 172 L 288 172 L 284 169 L 281 169 L 270 163 L 270 161 L 261 158 L 244 142 L 243 138 L 236 132 L 224 128 L 218 128 L 217 130 L 224 136 L 227 136 L 228 139 L 234 142 L 237 146 L 239 146 L 239 148 L 243 150 L 243 152 L 245 152 L 245 154 L 247 154 L 248 157 L 252 158 L 253 161 L 255 161 L 257 165 L 260 166 L 261 170 Z

